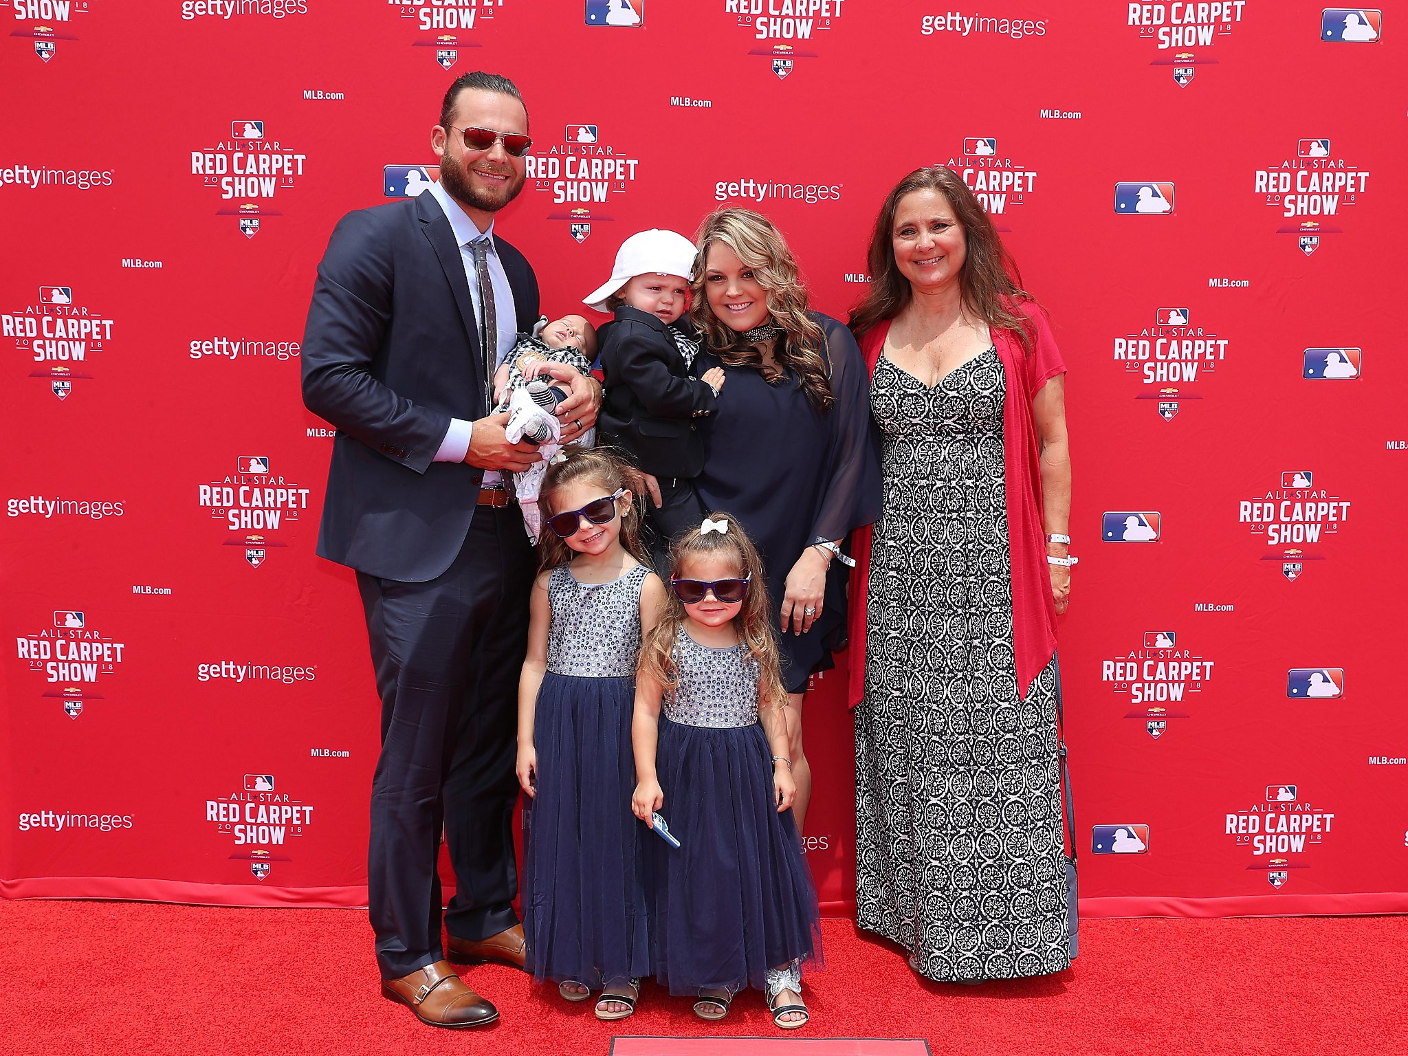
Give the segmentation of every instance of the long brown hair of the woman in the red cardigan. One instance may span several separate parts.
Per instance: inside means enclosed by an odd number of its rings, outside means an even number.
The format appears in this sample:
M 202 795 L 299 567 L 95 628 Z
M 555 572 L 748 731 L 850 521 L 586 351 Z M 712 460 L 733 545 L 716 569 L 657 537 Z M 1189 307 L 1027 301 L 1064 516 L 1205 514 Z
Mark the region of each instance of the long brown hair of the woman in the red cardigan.
M 914 296 L 910 280 L 894 260 L 893 239 L 894 214 L 900 200 L 917 190 L 935 190 L 948 199 L 963 225 L 967 253 L 959 270 L 959 287 L 964 310 L 987 322 L 990 328 L 1017 334 L 1022 349 L 1031 355 L 1036 346 L 1036 328 L 1018 311 L 1018 306 L 1026 301 L 1035 304 L 1036 298 L 1022 289 L 1022 273 L 1002 245 L 983 203 L 963 177 L 946 165 L 915 169 L 886 194 L 866 253 L 870 290 L 850 311 L 850 331 L 859 338 L 877 324 L 893 320 L 908 307 Z

